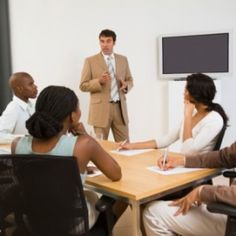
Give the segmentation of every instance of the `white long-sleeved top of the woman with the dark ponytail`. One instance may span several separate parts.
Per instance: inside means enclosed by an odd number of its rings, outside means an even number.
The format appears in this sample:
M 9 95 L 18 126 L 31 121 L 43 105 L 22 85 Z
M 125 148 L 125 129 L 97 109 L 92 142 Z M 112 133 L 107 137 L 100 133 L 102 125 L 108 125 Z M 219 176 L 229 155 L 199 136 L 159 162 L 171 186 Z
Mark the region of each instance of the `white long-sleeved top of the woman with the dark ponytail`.
M 200 154 L 211 151 L 223 127 L 222 116 L 216 112 L 209 112 L 192 129 L 192 138 L 183 142 L 183 123 L 164 137 L 156 139 L 158 148 L 167 147 L 177 140 L 178 145 L 170 147 L 171 151 L 184 154 Z M 174 147 L 174 148 L 173 148 Z

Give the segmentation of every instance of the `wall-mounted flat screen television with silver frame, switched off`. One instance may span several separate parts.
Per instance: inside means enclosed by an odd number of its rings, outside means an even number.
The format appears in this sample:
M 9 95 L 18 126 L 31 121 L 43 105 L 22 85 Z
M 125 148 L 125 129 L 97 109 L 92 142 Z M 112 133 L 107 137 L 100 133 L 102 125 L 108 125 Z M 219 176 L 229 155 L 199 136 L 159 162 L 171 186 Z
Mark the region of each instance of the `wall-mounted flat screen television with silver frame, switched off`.
M 213 77 L 230 74 L 230 34 L 209 33 L 161 36 L 160 77 L 184 78 L 192 73 Z

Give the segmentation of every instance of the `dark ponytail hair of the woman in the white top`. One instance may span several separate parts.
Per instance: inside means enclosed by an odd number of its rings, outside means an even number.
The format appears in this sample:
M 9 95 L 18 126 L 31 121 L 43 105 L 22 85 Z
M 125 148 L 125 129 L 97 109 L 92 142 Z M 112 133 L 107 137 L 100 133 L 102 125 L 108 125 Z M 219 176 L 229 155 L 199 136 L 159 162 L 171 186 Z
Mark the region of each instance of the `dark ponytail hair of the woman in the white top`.
M 186 89 L 190 96 L 196 101 L 203 103 L 207 106 L 207 111 L 218 112 L 226 126 L 228 123 L 228 116 L 226 115 L 223 107 L 218 103 L 213 103 L 216 94 L 216 87 L 213 79 L 208 75 L 197 73 L 187 77 Z

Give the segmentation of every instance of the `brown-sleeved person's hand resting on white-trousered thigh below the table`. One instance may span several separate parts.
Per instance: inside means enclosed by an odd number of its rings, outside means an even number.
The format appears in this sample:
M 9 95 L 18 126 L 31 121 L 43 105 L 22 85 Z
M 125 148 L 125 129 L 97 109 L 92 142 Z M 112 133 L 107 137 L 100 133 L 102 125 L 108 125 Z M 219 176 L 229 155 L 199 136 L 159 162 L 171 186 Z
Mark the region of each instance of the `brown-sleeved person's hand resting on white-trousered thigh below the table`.
M 195 188 L 193 191 L 191 191 L 189 194 L 187 194 L 185 197 L 182 197 L 176 201 L 173 201 L 169 204 L 169 206 L 178 206 L 179 209 L 174 214 L 174 216 L 178 216 L 180 214 L 187 214 L 189 209 L 192 206 L 199 206 L 201 205 L 201 199 L 200 199 L 200 191 L 202 189 L 202 186 L 199 186 Z

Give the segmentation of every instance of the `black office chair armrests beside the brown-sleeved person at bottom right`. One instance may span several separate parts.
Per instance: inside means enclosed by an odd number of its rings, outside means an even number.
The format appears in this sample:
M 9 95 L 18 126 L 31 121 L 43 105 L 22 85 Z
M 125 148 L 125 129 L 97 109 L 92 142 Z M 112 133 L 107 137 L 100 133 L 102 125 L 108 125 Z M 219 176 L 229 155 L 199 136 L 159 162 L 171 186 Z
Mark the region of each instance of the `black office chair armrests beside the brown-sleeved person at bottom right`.
M 232 182 L 232 178 L 236 177 L 235 171 L 225 171 L 223 173 L 225 177 L 230 178 L 230 182 Z M 224 214 L 227 215 L 227 224 L 225 236 L 236 236 L 236 207 L 225 203 L 209 203 L 207 204 L 207 209 L 210 212 Z

